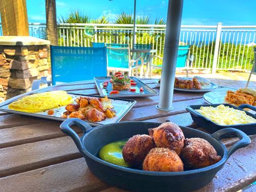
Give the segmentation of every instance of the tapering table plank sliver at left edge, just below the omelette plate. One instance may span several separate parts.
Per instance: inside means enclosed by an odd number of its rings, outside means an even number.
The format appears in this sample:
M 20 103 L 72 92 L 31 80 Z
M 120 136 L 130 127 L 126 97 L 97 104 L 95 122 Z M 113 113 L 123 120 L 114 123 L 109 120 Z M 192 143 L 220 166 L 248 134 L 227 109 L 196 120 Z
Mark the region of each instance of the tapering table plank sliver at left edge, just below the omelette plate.
M 0 116 L 0 129 L 5 129 L 13 126 L 22 126 L 27 124 L 35 124 L 40 122 L 50 121 L 49 119 L 42 119 L 36 117 L 29 117 L 25 115 L 2 115 Z

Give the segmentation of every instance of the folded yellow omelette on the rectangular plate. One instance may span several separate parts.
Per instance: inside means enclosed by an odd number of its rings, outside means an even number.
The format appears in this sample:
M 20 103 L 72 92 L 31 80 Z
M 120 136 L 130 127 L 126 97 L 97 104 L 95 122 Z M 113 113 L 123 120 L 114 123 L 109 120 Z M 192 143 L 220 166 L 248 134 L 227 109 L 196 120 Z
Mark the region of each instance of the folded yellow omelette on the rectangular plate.
M 49 91 L 29 95 L 12 102 L 8 107 L 15 111 L 35 113 L 70 103 L 73 103 L 73 99 L 66 91 Z

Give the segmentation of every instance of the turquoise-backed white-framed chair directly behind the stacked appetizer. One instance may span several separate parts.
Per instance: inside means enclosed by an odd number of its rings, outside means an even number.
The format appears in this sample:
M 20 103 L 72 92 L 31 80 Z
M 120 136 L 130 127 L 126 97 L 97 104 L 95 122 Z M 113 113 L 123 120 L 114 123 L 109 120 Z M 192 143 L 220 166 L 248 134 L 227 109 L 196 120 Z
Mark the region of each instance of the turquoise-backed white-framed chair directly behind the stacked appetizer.
M 106 54 L 108 58 L 108 73 L 110 71 L 123 71 L 128 72 L 129 76 L 132 76 L 132 71 L 136 70 L 138 75 L 138 69 L 140 69 L 140 78 L 143 75 L 143 58 L 131 59 L 130 48 L 115 48 L 107 47 Z M 139 65 L 140 61 L 140 65 Z

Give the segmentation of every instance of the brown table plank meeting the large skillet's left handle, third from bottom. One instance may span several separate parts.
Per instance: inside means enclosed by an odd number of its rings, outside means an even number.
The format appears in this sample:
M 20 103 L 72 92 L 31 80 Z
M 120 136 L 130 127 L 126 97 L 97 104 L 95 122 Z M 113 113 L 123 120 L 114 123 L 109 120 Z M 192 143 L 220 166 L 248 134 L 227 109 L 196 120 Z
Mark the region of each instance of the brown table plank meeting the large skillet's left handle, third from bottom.
M 0 130 L 0 148 L 67 136 L 60 129 L 60 121 L 42 122 Z M 81 133 L 78 127 L 74 131 Z

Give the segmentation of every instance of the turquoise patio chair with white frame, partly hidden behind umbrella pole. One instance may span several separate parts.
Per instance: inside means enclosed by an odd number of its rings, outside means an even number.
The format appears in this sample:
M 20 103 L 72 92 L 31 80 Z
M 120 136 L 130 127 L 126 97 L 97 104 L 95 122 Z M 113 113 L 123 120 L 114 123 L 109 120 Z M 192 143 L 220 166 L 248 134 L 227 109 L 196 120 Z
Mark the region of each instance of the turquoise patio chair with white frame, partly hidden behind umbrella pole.
M 193 56 L 191 56 L 189 59 L 187 59 L 187 55 L 189 53 L 190 50 L 190 46 L 179 46 L 178 49 L 178 57 L 177 57 L 177 64 L 176 64 L 176 68 L 183 68 L 186 69 L 186 75 L 188 76 L 188 63 L 187 61 L 193 61 Z M 157 55 L 152 56 L 151 61 L 150 61 L 150 77 L 151 77 L 151 73 L 152 73 L 152 68 L 154 69 L 162 69 L 162 65 L 154 65 L 152 63 L 153 58 L 157 57 L 161 60 L 163 60 L 162 57 L 159 57 Z

